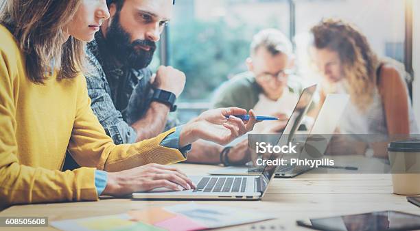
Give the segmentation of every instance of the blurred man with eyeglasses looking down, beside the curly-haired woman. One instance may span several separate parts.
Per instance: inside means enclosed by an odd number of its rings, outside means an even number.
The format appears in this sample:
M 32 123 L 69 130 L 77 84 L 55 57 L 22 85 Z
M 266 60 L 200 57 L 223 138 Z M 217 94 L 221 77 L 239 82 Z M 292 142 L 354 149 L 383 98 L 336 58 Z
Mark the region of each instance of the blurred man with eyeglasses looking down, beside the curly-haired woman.
M 237 74 L 215 92 L 213 108 L 242 107 L 257 114 L 283 118 L 277 122 L 256 124 L 255 132 L 277 132 L 294 109 L 303 85 L 292 75 L 292 42 L 277 29 L 264 29 L 253 37 L 248 71 Z M 267 130 L 268 128 L 268 130 Z

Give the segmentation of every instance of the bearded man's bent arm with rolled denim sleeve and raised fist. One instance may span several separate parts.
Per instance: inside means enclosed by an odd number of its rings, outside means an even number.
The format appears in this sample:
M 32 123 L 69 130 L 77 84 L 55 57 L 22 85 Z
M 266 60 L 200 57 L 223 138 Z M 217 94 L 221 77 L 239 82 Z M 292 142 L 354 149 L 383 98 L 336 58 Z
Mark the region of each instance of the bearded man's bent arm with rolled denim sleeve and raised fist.
M 100 69 L 100 67 L 97 67 Z M 100 73 L 100 70 L 97 71 Z M 165 128 L 170 107 L 159 102 L 150 103 L 145 115 L 131 126 L 124 121 L 121 112 L 115 108 L 112 98 L 106 91 L 108 81 L 101 74 L 86 77 L 88 94 L 92 100 L 91 108 L 100 120 L 107 135 L 115 144 L 132 144 L 143 139 L 155 137 Z M 155 87 L 173 92 L 178 97 L 183 92 L 185 74 L 172 67 L 159 67 L 154 80 Z

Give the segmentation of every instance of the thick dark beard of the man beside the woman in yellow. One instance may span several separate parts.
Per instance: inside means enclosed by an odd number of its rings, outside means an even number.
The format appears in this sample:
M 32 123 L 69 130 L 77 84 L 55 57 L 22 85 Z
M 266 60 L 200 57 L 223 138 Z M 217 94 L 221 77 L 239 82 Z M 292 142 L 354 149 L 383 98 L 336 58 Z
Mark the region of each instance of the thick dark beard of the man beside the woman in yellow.
M 150 40 L 135 40 L 131 42 L 130 33 L 125 31 L 119 24 L 119 12 L 115 14 L 114 20 L 106 32 L 106 41 L 113 55 L 117 57 L 123 66 L 136 70 L 149 66 L 156 50 L 156 44 Z M 145 51 L 139 48 L 139 45 L 149 46 L 150 50 Z

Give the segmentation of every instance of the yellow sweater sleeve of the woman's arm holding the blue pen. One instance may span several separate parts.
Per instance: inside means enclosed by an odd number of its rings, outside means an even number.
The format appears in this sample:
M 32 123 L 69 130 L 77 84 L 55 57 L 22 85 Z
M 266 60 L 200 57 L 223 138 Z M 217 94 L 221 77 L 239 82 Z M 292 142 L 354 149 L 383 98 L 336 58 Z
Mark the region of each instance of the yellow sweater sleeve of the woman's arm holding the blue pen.
M 84 80 L 81 78 L 80 81 Z M 185 160 L 179 150 L 161 145 L 161 141 L 174 133 L 175 128 L 154 139 L 115 146 L 110 137 L 104 134 L 104 129 L 91 110 L 91 100 L 86 95 L 86 82 L 80 83 L 80 86 L 77 116 L 68 147 L 80 165 L 116 172 L 148 163 L 170 164 Z

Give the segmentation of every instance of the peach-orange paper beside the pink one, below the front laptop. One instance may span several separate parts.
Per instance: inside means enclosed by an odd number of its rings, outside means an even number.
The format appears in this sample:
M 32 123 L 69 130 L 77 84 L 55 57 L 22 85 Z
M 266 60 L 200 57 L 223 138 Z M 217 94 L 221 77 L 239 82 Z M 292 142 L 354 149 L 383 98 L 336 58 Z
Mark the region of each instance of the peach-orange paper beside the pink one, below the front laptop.
M 176 216 L 176 214 L 171 213 L 161 207 L 150 208 L 146 210 L 131 210 L 128 212 L 128 215 L 132 217 L 132 219 L 130 219 L 132 221 L 141 221 L 150 225 Z

